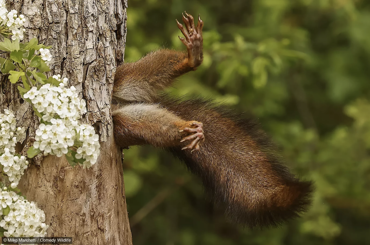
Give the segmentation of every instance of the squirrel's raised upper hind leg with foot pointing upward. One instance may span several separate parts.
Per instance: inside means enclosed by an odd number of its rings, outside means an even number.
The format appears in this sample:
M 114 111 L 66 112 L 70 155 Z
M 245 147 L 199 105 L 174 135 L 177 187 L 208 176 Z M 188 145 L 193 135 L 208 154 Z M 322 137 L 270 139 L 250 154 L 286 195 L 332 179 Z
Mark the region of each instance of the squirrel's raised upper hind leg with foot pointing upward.
M 178 27 L 184 34 L 180 40 L 187 52 L 160 49 L 147 54 L 140 60 L 125 63 L 117 68 L 114 76 L 113 100 L 116 102 L 154 102 L 158 91 L 169 87 L 175 78 L 189 71 L 194 71 L 203 61 L 203 21 L 186 14 L 178 21 Z

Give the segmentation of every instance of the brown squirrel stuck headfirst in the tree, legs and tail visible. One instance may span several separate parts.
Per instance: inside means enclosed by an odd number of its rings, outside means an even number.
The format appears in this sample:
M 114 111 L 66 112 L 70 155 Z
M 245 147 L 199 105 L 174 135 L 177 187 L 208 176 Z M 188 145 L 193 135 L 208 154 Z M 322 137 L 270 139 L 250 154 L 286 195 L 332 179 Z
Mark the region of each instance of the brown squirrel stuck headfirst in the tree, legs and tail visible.
M 118 145 L 149 144 L 173 152 L 202 178 L 232 221 L 275 226 L 309 204 L 312 185 L 292 175 L 251 120 L 206 100 L 165 99 L 159 91 L 203 60 L 203 21 L 177 20 L 186 52 L 161 49 L 117 68 L 112 117 Z

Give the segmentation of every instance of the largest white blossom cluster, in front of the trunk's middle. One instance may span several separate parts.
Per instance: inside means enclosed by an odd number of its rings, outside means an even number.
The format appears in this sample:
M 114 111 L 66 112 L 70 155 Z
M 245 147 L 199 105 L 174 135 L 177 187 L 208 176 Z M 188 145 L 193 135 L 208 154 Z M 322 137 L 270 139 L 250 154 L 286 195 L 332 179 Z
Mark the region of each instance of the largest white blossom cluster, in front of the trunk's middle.
M 68 79 L 60 75 L 53 78 L 60 81 L 59 86 L 44 84 L 31 88 L 23 98 L 31 100 L 36 110 L 42 114 L 46 123 L 36 130 L 33 147 L 44 155 L 61 157 L 68 148 L 75 147 L 77 159 L 85 159 L 83 167 L 89 168 L 100 154 L 99 136 L 90 125 L 80 125 L 77 120 L 86 113 L 85 100 L 78 98 L 76 88 L 66 88 Z

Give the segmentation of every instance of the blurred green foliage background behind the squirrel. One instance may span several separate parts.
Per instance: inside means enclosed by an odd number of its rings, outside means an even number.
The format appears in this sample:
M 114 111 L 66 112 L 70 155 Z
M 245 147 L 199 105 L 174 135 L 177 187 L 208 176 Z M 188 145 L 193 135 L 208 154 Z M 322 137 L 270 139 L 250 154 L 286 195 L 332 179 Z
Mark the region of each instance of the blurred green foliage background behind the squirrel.
M 225 221 L 181 162 L 124 150 L 135 245 L 370 244 L 370 1 L 129 0 L 125 61 L 185 50 L 175 19 L 204 21 L 204 63 L 174 96 L 202 95 L 261 122 L 313 204 L 275 229 Z

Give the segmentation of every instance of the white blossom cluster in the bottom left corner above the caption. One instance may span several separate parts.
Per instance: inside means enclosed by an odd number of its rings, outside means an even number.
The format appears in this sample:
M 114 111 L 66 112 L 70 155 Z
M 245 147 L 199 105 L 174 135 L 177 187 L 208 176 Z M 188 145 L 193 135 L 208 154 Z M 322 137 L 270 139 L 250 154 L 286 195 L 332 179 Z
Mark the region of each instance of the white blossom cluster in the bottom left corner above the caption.
M 3 214 L 6 207 L 10 208 L 7 215 Z M 34 202 L 29 202 L 14 191 L 0 192 L 0 227 L 5 229 L 7 237 L 44 237 L 48 225 L 45 222 L 45 213 Z

